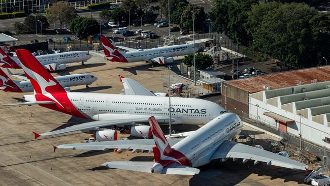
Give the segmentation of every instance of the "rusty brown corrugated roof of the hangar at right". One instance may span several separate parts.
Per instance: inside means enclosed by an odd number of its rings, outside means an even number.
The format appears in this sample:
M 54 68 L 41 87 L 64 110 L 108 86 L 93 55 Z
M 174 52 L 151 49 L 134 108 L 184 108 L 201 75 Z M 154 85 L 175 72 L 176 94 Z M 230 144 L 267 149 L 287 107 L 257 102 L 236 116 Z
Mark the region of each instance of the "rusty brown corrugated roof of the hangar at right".
M 308 84 L 314 79 L 316 79 L 317 82 L 329 81 L 330 66 L 266 74 L 245 79 L 225 81 L 223 83 L 241 88 L 249 93 L 254 93 L 265 90 L 263 85 L 268 85 L 271 86 L 272 89 L 277 89 L 295 86 L 299 82 L 302 84 Z

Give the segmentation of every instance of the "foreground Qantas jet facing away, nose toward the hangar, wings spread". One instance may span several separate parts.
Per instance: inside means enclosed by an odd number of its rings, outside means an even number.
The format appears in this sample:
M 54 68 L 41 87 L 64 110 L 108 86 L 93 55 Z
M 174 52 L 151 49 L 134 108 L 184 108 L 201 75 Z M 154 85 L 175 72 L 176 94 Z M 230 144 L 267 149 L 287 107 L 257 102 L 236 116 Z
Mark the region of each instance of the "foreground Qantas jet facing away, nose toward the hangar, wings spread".
M 149 150 L 153 151 L 154 162 L 107 162 L 102 165 L 107 168 L 160 174 L 194 175 L 200 172 L 194 167 L 206 165 L 216 159 L 223 162 L 229 158 L 233 158 L 233 161 L 243 159 L 243 163 L 252 160 L 254 165 L 265 162 L 267 165 L 289 169 L 308 168 L 305 164 L 279 154 L 230 141 L 241 133 L 243 127 L 241 119 L 234 113 L 221 114 L 183 139 L 167 139 L 153 116 L 149 118 L 149 123 L 153 139 L 64 144 L 54 146 L 54 150 Z

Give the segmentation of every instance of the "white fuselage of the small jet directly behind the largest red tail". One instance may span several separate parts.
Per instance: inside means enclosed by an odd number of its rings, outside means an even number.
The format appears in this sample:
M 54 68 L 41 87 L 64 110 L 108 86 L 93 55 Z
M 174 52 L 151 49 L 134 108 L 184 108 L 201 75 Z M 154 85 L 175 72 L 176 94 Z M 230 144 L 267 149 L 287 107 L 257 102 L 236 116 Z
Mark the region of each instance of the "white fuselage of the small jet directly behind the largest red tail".
M 70 87 L 70 86 L 77 86 L 83 84 L 90 85 L 97 80 L 97 78 L 91 74 L 73 74 L 73 75 L 57 76 L 54 78 L 58 81 L 58 83 L 62 87 Z M 22 92 L 29 92 L 34 90 L 30 80 L 13 81 L 13 82 L 19 88 L 21 88 Z

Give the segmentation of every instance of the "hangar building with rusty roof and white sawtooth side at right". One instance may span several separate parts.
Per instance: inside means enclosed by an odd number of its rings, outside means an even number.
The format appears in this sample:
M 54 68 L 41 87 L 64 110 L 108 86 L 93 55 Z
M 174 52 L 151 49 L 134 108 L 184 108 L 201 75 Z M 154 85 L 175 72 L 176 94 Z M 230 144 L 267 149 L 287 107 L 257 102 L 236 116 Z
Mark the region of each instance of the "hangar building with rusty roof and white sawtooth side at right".
M 330 149 L 329 66 L 224 81 L 221 86 L 228 111 Z

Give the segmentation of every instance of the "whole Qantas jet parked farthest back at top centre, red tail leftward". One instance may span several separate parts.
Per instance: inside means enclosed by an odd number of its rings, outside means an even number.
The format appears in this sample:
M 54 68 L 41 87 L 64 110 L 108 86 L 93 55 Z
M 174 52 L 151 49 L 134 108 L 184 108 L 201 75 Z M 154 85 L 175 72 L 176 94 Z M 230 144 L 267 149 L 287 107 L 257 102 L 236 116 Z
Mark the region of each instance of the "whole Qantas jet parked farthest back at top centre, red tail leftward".
M 193 52 L 193 45 L 173 45 L 151 49 L 133 49 L 128 47 L 116 46 L 128 52 L 121 52 L 105 37 L 101 36 L 101 42 L 106 58 L 112 62 L 138 62 L 152 61 L 159 64 L 172 63 L 173 56 L 187 55 Z

